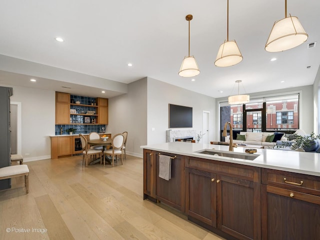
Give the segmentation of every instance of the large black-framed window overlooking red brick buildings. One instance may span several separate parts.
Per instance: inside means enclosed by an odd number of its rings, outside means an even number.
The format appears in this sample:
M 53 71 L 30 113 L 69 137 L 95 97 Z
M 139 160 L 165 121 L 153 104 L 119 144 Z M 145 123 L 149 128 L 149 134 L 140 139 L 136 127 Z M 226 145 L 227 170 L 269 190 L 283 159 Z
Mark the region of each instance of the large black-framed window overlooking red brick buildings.
M 293 133 L 299 129 L 299 93 L 250 99 L 247 104 L 229 105 L 220 102 L 220 140 L 224 123 L 242 131 L 281 131 Z

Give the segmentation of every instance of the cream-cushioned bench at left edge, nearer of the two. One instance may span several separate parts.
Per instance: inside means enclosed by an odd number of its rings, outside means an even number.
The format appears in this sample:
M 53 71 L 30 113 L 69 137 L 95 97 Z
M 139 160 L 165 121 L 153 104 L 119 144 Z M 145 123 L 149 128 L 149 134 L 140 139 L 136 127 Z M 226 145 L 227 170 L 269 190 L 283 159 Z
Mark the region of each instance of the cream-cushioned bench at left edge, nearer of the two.
M 0 180 L 16 176 L 24 176 L 25 192 L 29 191 L 29 168 L 25 164 L 11 165 L 0 168 Z

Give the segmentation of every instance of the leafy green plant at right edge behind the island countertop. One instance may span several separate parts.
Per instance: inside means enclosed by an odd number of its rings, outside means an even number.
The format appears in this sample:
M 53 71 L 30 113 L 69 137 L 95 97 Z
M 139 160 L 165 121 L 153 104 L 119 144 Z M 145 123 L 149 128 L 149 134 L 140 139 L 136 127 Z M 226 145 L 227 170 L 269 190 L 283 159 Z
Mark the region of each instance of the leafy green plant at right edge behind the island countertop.
M 276 148 L 286 147 L 289 146 L 291 149 L 299 149 L 309 147 L 314 144 L 313 140 L 320 139 L 320 134 L 315 135 L 314 132 L 311 132 L 310 135 L 298 135 L 293 133 L 293 140 L 292 141 L 282 141 L 282 144 L 276 145 Z

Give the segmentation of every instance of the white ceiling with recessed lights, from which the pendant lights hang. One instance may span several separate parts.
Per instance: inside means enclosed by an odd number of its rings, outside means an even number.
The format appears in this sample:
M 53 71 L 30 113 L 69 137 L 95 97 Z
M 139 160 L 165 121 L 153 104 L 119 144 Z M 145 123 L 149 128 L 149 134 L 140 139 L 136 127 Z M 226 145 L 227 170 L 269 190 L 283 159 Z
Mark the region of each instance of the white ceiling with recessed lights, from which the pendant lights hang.
M 213 62 L 226 39 L 226 0 L 5 0 L 0 7 L 0 54 L 123 83 L 148 76 L 223 97 L 236 93 L 238 79 L 245 93 L 313 84 L 320 42 L 313 48 L 307 43 L 320 40 L 319 11 L 319 0 L 288 0 L 287 13 L 299 18 L 308 39 L 270 53 L 264 45 L 273 22 L 284 17 L 284 0 L 229 0 L 229 40 L 236 40 L 243 60 L 220 68 Z M 195 81 L 177 74 L 188 53 L 187 14 L 193 15 L 190 54 L 200 68 Z M 55 41 L 56 36 L 65 41 Z M 270 61 L 272 57 L 277 60 Z M 2 69 L 0 83 L 22 85 L 29 76 Z M 64 83 L 42 80 L 54 90 Z M 72 87 L 97 96 L 94 91 L 101 89 Z

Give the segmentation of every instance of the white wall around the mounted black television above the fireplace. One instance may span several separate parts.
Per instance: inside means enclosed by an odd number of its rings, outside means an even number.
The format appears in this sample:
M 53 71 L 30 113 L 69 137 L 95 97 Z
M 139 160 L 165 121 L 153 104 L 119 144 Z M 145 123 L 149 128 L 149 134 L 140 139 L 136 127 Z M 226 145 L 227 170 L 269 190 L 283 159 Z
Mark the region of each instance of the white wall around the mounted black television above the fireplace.
M 183 80 L 183 79 L 181 79 Z M 175 85 L 159 80 L 147 78 L 147 144 L 155 144 L 166 141 L 166 130 L 168 128 L 169 110 L 168 104 L 176 104 L 192 107 L 192 129 L 197 133 L 202 131 L 202 112 L 210 112 L 210 134 L 208 139 L 213 139 L 216 131 L 215 99 L 199 94 Z M 152 130 L 154 128 L 154 130 Z M 190 129 L 190 128 L 172 128 Z

